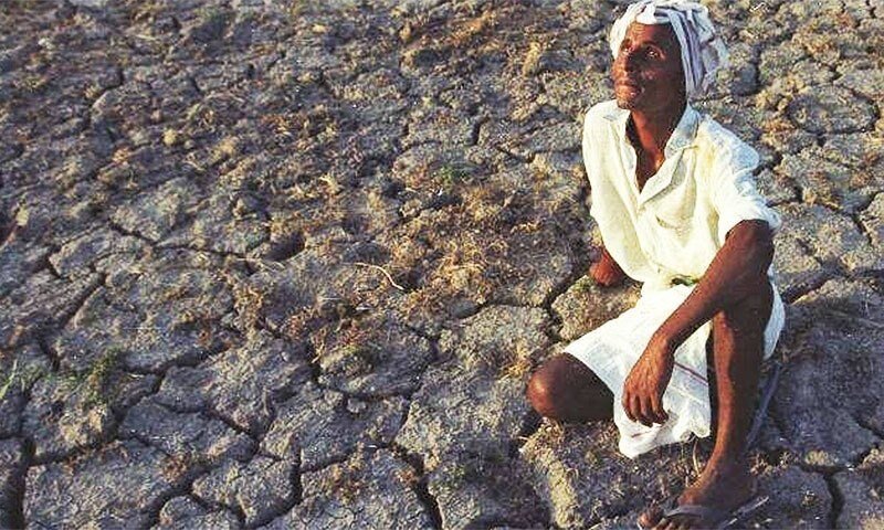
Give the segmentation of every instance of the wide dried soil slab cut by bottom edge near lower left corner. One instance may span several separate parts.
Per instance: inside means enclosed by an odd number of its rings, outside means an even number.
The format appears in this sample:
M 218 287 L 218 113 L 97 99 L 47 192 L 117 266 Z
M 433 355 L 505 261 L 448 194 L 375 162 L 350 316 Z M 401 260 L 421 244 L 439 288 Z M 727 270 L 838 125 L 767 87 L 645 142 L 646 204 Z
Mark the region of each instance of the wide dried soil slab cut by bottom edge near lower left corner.
M 146 527 L 189 473 L 138 442 L 114 443 L 74 462 L 31 467 L 24 520 L 29 529 Z

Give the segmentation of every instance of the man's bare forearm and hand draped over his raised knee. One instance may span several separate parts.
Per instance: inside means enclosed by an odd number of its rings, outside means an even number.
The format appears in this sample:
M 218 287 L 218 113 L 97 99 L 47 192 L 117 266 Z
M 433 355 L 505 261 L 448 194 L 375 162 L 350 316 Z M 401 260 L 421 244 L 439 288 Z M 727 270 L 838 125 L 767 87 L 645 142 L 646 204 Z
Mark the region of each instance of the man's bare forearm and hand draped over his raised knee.
M 765 278 L 774 241 L 765 221 L 741 221 L 694 290 L 651 337 L 623 385 L 623 409 L 632 421 L 663 423 L 663 392 L 672 377 L 675 350 L 715 314 L 740 301 Z

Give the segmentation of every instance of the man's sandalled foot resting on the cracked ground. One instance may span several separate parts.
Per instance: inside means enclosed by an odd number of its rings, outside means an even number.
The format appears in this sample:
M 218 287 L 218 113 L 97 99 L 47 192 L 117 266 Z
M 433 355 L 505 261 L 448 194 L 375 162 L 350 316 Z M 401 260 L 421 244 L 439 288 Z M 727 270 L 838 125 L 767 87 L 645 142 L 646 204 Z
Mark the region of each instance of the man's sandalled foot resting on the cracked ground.
M 745 505 L 754 495 L 755 477 L 747 463 L 709 462 L 697 481 L 678 496 L 678 506 L 699 505 L 727 513 Z M 650 508 L 639 517 L 639 524 L 657 530 L 681 530 L 709 528 L 720 522 L 684 513 L 663 517 L 663 512 L 662 507 Z

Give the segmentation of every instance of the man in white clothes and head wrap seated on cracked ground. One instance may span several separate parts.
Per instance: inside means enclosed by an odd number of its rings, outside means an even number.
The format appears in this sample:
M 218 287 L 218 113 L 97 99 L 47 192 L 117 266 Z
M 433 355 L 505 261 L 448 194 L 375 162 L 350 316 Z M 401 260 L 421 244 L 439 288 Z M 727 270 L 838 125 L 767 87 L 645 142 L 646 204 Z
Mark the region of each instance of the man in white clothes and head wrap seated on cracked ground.
M 770 280 L 780 225 L 754 183 L 754 149 L 687 97 L 726 60 L 707 10 L 644 0 L 611 31 L 614 102 L 586 116 L 583 159 L 604 245 L 590 274 L 641 283 L 636 306 L 568 344 L 532 377 L 528 399 L 561 421 L 613 420 L 633 457 L 708 436 L 711 342 L 717 398 L 713 454 L 696 484 L 650 528 L 707 528 L 751 502 L 746 457 L 761 361 L 783 325 Z M 613 414 L 612 414 L 613 410 Z

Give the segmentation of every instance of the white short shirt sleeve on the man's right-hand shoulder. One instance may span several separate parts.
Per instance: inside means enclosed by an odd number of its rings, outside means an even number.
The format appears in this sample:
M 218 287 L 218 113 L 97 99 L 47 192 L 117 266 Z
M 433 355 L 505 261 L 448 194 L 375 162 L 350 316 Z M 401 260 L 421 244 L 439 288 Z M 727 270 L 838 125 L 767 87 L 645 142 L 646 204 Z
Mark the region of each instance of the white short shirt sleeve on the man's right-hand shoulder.
M 779 214 L 755 186 L 758 153 L 743 146 L 724 157 L 713 174 L 712 202 L 718 213 L 718 240 L 724 243 L 727 233 L 740 221 L 761 220 L 775 233 L 782 225 Z

